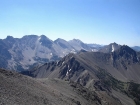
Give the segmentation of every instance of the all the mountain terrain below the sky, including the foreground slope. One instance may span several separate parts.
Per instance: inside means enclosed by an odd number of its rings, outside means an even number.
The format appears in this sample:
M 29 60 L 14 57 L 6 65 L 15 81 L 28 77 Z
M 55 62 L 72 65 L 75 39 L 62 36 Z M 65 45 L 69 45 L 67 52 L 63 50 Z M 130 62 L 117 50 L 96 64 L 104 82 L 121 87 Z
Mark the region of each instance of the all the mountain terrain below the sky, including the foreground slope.
M 0 40 L 0 104 L 139 105 L 138 48 L 8 36 Z

